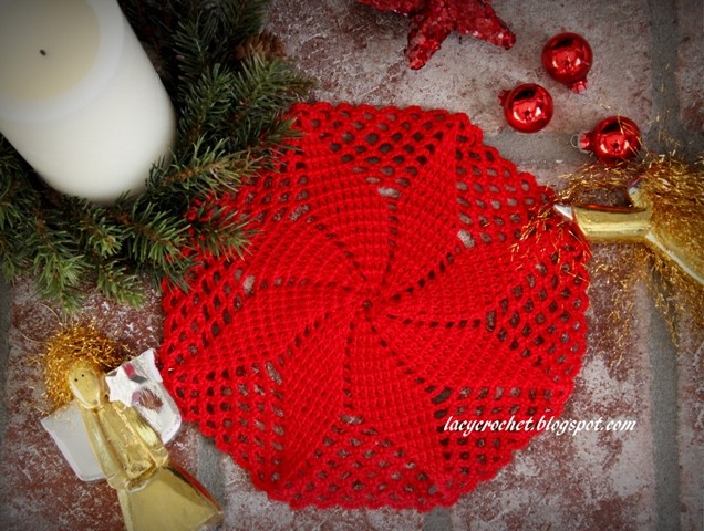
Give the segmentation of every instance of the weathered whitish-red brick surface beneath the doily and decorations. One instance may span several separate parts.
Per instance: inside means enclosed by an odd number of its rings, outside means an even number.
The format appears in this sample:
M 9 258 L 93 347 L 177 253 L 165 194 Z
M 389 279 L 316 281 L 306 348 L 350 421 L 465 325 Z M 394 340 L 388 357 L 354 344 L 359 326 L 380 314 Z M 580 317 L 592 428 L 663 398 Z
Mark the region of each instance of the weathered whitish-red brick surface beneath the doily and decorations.
M 411 71 L 403 54 L 407 19 L 354 0 L 273 0 L 269 28 L 319 81 L 315 98 L 467 113 L 488 144 L 553 187 L 589 160 L 570 145 L 572 135 L 611 114 L 634 119 L 658 149 L 665 127 L 667 136 L 687 140 L 692 158 L 701 155 L 701 0 L 495 0 L 493 6 L 517 35 L 514 49 L 454 34 L 420 71 Z M 540 66 L 543 43 L 561 31 L 583 34 L 594 52 L 589 88 L 580 95 Z M 511 131 L 498 104 L 501 88 L 522 82 L 542 84 L 555 98 L 551 124 L 536 135 Z M 604 246 L 594 253 L 608 268 L 592 271 L 589 347 L 562 418 L 634 420 L 630 431 L 545 433 L 494 480 L 427 514 L 291 510 L 257 491 L 247 472 L 194 426 L 169 446 L 172 456 L 222 503 L 227 531 L 702 531 L 701 316 L 685 312 L 674 323 L 675 348 L 645 284 L 629 280 L 639 268 L 632 250 Z M 153 293 L 139 312 L 93 296 L 85 314 L 135 352 L 159 342 L 162 313 Z M 23 282 L 11 292 L 0 287 L 0 529 L 123 529 L 115 492 L 104 482 L 79 481 L 39 425 L 46 403 L 37 356 L 60 326 L 56 315 Z

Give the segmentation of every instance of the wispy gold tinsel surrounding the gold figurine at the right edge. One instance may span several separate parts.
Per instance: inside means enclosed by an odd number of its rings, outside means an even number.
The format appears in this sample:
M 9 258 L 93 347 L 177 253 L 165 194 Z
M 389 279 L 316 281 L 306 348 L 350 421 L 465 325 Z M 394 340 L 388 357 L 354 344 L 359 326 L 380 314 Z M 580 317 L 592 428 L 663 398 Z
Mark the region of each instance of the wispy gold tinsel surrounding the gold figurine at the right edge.
M 687 165 L 673 156 L 646 155 L 639 163 L 604 167 L 590 165 L 565 176 L 566 186 L 556 192 L 555 202 L 636 209 L 636 200 L 629 196 L 629 187 L 638 181 L 640 195 L 652 206 L 650 225 L 681 251 L 687 266 L 704 270 L 704 160 Z M 640 199 L 639 199 L 640 200 Z M 532 223 L 539 230 L 548 217 L 555 216 L 550 205 Z M 527 236 L 527 235 L 526 235 Z M 623 243 L 618 239 L 613 243 Z M 615 344 L 614 361 L 620 361 L 631 347 L 628 336 L 634 320 L 633 304 L 627 292 L 645 282 L 655 306 L 662 313 L 675 347 L 677 323 L 686 317 L 696 327 L 704 326 L 704 285 L 677 266 L 670 257 L 652 246 L 623 246 L 615 252 L 628 254 L 628 263 L 604 262 L 594 254 L 590 269 L 598 274 L 613 275 L 611 315 Z M 627 262 L 621 260 L 621 262 Z M 701 280 L 701 279 L 700 279 Z

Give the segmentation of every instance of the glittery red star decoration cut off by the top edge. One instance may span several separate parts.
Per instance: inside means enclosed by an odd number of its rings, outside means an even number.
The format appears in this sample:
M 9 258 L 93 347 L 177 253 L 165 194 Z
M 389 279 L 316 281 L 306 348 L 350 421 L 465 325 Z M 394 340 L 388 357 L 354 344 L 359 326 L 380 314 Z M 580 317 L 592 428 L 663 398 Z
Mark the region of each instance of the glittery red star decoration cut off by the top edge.
M 411 19 L 406 56 L 413 70 L 424 66 L 452 31 L 476 37 L 506 50 L 516 42 L 516 35 L 491 9 L 490 0 L 359 1 Z

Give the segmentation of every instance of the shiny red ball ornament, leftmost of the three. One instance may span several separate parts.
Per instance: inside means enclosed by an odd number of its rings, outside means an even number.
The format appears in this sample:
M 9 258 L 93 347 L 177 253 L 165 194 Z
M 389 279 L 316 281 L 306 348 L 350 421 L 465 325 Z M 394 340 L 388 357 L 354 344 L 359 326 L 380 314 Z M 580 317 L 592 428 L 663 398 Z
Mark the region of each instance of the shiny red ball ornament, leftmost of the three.
M 542 86 L 524 83 L 513 91 L 501 91 L 499 102 L 508 124 L 521 133 L 542 129 L 552 118 L 552 97 Z

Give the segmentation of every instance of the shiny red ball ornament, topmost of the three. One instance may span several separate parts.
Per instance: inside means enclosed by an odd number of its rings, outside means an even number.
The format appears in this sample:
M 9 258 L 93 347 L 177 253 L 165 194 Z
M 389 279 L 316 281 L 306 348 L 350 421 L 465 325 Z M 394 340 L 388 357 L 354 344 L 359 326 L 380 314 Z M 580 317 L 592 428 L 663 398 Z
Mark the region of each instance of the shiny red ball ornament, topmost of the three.
M 591 46 L 582 35 L 560 33 L 542 49 L 542 66 L 556 81 L 573 92 L 587 88 L 587 72 L 591 69 Z

